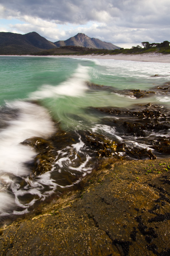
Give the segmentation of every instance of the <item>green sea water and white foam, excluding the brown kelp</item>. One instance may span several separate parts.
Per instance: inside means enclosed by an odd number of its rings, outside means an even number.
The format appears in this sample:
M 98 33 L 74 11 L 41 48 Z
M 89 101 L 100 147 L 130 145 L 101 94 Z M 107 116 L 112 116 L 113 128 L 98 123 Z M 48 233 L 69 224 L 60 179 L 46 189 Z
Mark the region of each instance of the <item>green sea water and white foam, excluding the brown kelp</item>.
M 134 136 L 122 135 L 114 127 L 102 125 L 102 116 L 89 111 L 91 107 L 130 109 L 136 104 L 152 102 L 170 108 L 166 94 L 136 99 L 121 93 L 127 89 L 150 90 L 169 81 L 170 66 L 166 63 L 0 56 L 0 77 L 0 214 L 3 216 L 29 212 L 37 200 L 73 186 L 92 171 L 93 158 L 78 133 L 80 130 L 98 132 L 126 145 L 149 147 Z M 92 89 L 87 82 L 112 86 L 115 91 Z M 66 134 L 74 132 L 77 139 L 73 138 L 72 144 L 56 152 L 51 171 L 30 178 L 25 163 L 31 162 L 37 153 L 21 142 L 32 137 L 48 139 L 57 132 L 58 123 Z M 66 169 L 74 176 L 81 174 L 81 178 L 72 184 L 60 182 L 59 174 Z

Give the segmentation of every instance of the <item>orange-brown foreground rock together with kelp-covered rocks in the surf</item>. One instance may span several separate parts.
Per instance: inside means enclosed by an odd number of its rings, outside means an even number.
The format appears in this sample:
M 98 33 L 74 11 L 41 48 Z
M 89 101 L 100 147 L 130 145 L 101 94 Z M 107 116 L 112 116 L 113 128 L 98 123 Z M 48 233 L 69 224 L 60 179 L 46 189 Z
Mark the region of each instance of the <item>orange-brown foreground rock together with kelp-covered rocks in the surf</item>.
M 88 86 L 93 90 L 114 90 L 97 84 Z M 152 91 L 123 91 L 136 98 L 169 92 L 169 82 Z M 15 111 L 10 115 L 4 111 L 7 118 L 17 115 Z M 170 255 L 170 158 L 161 158 L 170 152 L 169 109 L 148 103 L 131 109 L 108 106 L 89 107 L 86 111 L 99 113 L 101 124 L 122 132 L 126 141 L 128 136 L 130 142 L 135 137 L 141 145 L 147 140 L 156 155 L 151 149 L 126 145 L 94 132 L 66 132 L 59 123 L 57 132 L 48 139 L 24 140 L 22 144 L 37 152 L 33 163 L 28 163 L 32 177 L 50 171 L 57 151 L 78 143 L 80 137 L 92 157 L 89 164 L 97 167 L 82 179 L 82 173 L 70 174 L 63 166 L 55 177 L 61 188 L 53 198 L 33 206 L 34 210 L 30 207 L 33 212 L 26 216 L 4 220 L 0 255 Z M 78 120 L 78 116 L 73 118 Z M 4 116 L 2 120 L 4 127 Z M 70 155 L 70 151 L 67 153 Z M 73 159 L 76 166 L 85 162 L 83 153 Z M 79 179 L 82 181 L 72 186 Z M 19 184 L 25 186 L 22 180 Z M 63 189 L 65 185 L 71 186 Z

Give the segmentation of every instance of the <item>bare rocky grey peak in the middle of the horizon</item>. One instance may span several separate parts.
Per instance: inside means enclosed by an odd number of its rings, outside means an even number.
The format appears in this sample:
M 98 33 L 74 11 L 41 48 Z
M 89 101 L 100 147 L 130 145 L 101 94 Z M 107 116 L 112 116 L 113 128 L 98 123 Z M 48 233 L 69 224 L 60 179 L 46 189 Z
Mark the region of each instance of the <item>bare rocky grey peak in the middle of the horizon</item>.
M 67 46 L 67 45 L 74 45 L 74 46 L 82 46 L 87 48 L 97 48 L 97 49 L 107 49 L 107 50 L 115 50 L 120 49 L 120 47 L 103 42 L 97 38 L 90 38 L 85 34 L 78 33 L 76 36 L 72 36 L 65 41 L 57 41 L 54 43 L 56 46 Z

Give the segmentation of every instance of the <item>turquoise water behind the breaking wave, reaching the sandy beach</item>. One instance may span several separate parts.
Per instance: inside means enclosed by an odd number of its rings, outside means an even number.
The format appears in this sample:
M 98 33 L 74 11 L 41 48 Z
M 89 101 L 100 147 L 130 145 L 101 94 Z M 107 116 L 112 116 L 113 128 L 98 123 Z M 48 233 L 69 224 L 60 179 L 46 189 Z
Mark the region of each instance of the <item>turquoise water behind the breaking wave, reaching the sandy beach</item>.
M 123 89 L 148 89 L 170 78 L 169 64 L 52 57 L 0 57 L 0 103 L 25 99 L 43 85 L 66 81 L 78 65 L 89 67 L 89 80 Z M 158 74 L 159 77 L 152 77 Z

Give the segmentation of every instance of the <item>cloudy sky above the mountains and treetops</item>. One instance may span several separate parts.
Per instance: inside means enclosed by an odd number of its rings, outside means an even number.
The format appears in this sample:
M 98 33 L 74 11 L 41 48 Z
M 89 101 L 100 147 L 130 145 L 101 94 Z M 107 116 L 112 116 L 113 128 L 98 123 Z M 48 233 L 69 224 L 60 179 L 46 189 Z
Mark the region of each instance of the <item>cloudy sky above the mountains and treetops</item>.
M 170 41 L 170 0 L 0 0 L 0 32 L 78 33 L 123 48 Z

